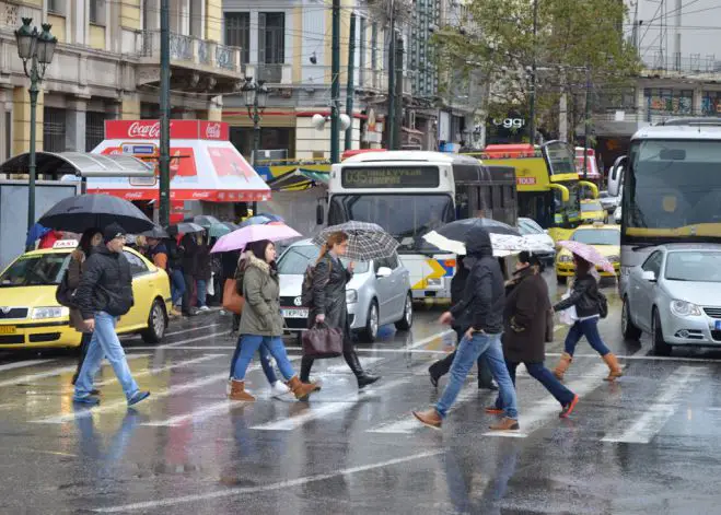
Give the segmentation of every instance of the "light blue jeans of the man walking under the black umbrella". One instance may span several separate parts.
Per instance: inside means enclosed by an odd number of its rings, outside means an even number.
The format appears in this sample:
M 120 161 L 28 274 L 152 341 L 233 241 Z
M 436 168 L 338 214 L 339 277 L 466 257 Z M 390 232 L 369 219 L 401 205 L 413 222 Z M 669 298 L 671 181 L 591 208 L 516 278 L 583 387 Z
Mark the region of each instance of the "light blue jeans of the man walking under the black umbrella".
M 125 351 L 120 344 L 117 333 L 115 332 L 115 325 L 117 318 L 108 315 L 105 312 L 95 313 L 95 332 L 88 346 L 88 354 L 83 361 L 80 375 L 75 383 L 75 398 L 88 397 L 93 390 L 93 378 L 101 367 L 103 356 L 113 365 L 113 371 L 123 386 L 125 397 L 130 399 L 138 393 L 138 385 L 136 384 L 128 361 L 125 359 Z

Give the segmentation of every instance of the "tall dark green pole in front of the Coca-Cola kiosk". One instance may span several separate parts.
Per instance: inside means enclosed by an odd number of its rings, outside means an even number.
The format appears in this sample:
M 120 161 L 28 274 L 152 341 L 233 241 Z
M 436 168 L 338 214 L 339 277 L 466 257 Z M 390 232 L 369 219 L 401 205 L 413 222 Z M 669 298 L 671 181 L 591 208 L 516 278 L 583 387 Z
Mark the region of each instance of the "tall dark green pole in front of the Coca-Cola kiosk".
M 160 224 L 171 223 L 171 9 L 160 3 Z

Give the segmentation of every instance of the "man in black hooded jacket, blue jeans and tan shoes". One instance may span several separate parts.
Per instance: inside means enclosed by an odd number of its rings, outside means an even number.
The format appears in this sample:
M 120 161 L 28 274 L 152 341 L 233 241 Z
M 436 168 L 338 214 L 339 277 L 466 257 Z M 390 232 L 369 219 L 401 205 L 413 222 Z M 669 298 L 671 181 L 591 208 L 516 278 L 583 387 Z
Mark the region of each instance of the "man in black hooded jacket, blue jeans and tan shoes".
M 451 366 L 451 379 L 443 396 L 435 408 L 427 411 L 414 411 L 414 415 L 426 425 L 440 429 L 449 409 L 458 396 L 473 363 L 479 356 L 485 356 L 493 378 L 498 383 L 504 413 L 503 419 L 492 424 L 490 429 L 495 431 L 518 430 L 519 413 L 515 389 L 505 367 L 501 348 L 505 302 L 503 276 L 498 260 L 493 258 L 490 236 L 486 230 L 477 227 L 468 231 L 465 244 L 468 251 L 466 261 L 470 266 L 470 273 L 463 301 L 441 315 L 440 318 L 441 324 L 452 324 L 455 320 L 464 328 L 465 335 L 458 343 Z

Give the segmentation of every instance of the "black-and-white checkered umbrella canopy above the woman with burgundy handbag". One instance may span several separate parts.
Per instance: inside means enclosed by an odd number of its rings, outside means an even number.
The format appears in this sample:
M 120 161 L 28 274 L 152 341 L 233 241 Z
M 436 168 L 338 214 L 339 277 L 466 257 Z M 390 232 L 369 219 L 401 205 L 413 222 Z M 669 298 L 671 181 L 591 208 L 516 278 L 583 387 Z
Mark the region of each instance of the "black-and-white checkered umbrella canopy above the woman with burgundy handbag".
M 348 259 L 368 261 L 391 257 L 398 248 L 398 242 L 374 223 L 346 222 L 326 227 L 313 238 L 313 243 L 322 246 L 332 233 L 342 231 L 348 234 Z

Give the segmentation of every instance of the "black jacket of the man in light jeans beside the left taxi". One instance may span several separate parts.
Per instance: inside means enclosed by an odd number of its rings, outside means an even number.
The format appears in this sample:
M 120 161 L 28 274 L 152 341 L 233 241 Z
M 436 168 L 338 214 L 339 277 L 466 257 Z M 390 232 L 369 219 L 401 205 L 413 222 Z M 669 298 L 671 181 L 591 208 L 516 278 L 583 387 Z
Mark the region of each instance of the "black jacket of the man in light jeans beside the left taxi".
M 85 260 L 74 299 L 83 320 L 93 318 L 95 312 L 113 316 L 128 313 L 133 305 L 132 274 L 125 255 L 98 246 Z

